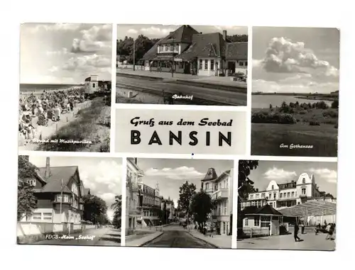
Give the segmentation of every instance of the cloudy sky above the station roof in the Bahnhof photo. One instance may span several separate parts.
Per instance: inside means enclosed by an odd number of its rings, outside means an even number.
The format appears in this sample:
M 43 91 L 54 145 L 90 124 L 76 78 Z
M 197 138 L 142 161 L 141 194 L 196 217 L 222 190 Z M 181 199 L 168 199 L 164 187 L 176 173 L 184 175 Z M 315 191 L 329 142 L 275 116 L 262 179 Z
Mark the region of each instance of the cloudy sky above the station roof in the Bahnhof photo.
M 138 35 L 145 35 L 148 38 L 165 38 L 170 32 L 175 31 L 180 26 L 163 26 L 151 24 L 121 24 L 117 26 L 117 39 L 124 40 L 124 37 L 137 38 Z M 246 26 L 192 26 L 202 33 L 222 33 L 226 30 L 227 35 L 248 34 Z

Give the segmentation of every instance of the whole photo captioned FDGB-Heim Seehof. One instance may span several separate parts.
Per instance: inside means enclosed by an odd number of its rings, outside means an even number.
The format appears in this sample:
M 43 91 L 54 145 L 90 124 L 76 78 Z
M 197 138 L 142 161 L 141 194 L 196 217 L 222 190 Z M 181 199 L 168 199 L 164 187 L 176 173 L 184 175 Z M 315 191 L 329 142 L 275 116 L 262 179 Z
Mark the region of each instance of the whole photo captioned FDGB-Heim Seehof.
M 17 243 L 121 245 L 122 159 L 18 156 Z

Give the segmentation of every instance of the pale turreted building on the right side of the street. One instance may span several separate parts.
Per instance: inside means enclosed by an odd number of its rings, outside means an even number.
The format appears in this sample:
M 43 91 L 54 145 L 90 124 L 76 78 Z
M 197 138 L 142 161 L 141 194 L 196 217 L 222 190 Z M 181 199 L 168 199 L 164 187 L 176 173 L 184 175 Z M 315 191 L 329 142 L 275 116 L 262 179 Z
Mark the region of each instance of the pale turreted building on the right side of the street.
M 209 168 L 202 179 L 202 189 L 216 203 L 210 220 L 216 225 L 221 235 L 230 235 L 233 213 L 233 169 L 217 176 L 214 168 Z

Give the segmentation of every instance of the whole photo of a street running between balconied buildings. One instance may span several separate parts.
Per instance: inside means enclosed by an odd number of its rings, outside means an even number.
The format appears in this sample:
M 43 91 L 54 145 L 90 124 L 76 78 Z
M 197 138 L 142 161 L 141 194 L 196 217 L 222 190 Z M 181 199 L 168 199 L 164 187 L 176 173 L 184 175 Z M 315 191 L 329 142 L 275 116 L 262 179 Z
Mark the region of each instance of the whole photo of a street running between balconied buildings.
M 232 160 L 127 159 L 126 247 L 231 248 Z

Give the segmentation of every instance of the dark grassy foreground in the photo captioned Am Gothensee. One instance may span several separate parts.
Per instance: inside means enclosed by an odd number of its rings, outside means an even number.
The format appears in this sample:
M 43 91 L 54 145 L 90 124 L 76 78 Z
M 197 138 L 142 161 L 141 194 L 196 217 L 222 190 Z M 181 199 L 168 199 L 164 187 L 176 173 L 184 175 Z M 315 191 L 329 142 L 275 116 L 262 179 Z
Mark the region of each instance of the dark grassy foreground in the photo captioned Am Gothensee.
M 252 123 L 251 154 L 270 156 L 337 157 L 338 130 L 334 125 Z M 312 145 L 312 149 L 280 145 Z

